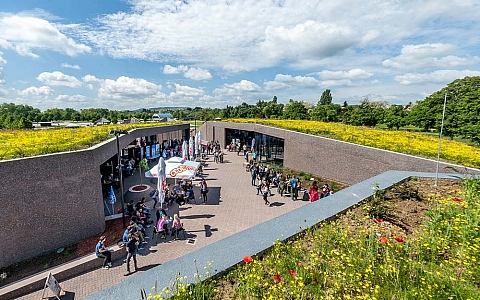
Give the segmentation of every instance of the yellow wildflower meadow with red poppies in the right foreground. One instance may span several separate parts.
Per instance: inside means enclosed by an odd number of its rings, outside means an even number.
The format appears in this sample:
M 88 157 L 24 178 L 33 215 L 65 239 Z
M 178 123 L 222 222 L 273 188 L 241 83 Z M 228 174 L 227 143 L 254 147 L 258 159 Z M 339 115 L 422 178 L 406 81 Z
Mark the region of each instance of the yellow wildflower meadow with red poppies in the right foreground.
M 431 208 L 415 234 L 376 224 L 361 207 L 295 241 L 277 242 L 216 281 L 149 297 L 480 299 L 480 179 L 463 185 L 448 197 L 424 200 Z

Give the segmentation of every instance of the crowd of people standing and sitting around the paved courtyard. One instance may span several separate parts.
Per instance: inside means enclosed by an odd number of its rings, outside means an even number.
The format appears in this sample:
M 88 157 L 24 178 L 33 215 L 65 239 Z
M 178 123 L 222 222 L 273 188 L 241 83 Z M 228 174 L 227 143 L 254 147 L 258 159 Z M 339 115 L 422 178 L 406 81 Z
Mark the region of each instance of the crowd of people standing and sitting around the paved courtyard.
M 217 161 L 215 154 L 222 153 L 221 148 L 219 147 L 218 142 L 210 142 L 204 146 L 204 151 L 208 154 L 214 155 L 214 161 Z M 333 194 L 333 190 L 329 187 L 328 184 L 319 186 L 318 181 L 312 181 L 309 189 L 302 188 L 302 183 L 300 178 L 296 175 L 284 175 L 281 172 L 277 172 L 275 169 L 269 168 L 268 165 L 256 162 L 255 152 L 252 153 L 252 158 L 249 159 L 248 150 L 246 145 L 239 147 L 237 154 L 240 155 L 240 152 L 244 151 L 245 159 L 247 160 L 247 171 L 249 171 L 251 176 L 251 185 L 255 187 L 257 195 L 261 195 L 264 204 L 272 206 L 272 203 L 269 201 L 269 197 L 273 196 L 271 190 L 276 187 L 278 195 L 280 197 L 286 197 L 287 195 L 291 198 L 292 201 L 297 201 L 299 199 L 299 192 L 304 192 L 303 200 L 305 196 L 308 196 L 311 202 L 317 201 L 318 199 L 324 198 Z M 205 179 L 202 179 L 199 184 L 200 189 L 200 199 L 202 203 L 207 203 L 208 201 L 208 185 Z M 183 224 L 180 220 L 178 214 L 169 216 L 167 214 L 168 206 L 173 203 L 177 203 L 179 206 L 189 203 L 191 200 L 195 200 L 195 193 L 193 191 L 193 184 L 191 181 L 184 180 L 176 183 L 173 187 L 170 184 L 167 185 L 165 189 L 165 203 L 166 207 L 163 205 L 158 205 L 159 202 L 159 191 L 154 189 L 150 193 L 150 197 L 154 201 L 153 211 L 155 214 L 156 221 L 151 218 L 150 207 L 145 204 L 145 197 L 142 197 L 137 203 L 133 200 L 126 206 L 126 215 L 130 217 L 129 225 L 125 229 L 122 237 L 122 242 L 125 246 L 127 252 L 127 257 L 124 260 L 126 262 L 126 273 L 125 276 L 131 274 L 130 264 L 133 260 L 134 271 L 137 271 L 137 255 L 141 255 L 139 250 L 144 249 L 143 244 L 147 244 L 147 239 L 149 236 L 146 234 L 146 228 L 154 226 L 154 233 L 161 235 L 164 239 L 168 235 L 177 239 L 178 233 L 183 230 Z M 196 203 L 196 201 L 195 201 Z M 111 267 L 111 253 L 105 247 L 105 237 L 100 237 L 96 247 L 95 253 L 98 257 L 104 259 L 103 268 L 108 269 Z

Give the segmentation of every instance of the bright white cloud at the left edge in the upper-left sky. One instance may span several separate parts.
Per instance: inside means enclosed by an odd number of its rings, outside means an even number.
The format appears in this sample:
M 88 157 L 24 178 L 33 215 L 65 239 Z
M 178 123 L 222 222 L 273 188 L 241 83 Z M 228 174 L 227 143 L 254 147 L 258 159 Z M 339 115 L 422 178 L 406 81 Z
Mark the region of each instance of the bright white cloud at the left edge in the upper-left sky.
M 68 56 L 91 52 L 91 48 L 76 43 L 46 20 L 20 15 L 0 18 L 0 46 L 12 49 L 22 56 L 38 58 L 33 49 L 49 49 Z

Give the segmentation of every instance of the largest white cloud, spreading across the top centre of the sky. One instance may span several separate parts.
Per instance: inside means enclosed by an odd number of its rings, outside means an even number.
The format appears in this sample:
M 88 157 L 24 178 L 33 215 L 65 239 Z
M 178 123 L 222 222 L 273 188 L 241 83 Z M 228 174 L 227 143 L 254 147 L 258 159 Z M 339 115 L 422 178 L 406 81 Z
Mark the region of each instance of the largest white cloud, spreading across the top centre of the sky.
M 99 17 L 79 32 L 115 58 L 254 70 L 285 59 L 321 59 L 361 41 L 362 33 L 326 9 L 342 4 L 327 2 L 132 1 L 131 12 Z

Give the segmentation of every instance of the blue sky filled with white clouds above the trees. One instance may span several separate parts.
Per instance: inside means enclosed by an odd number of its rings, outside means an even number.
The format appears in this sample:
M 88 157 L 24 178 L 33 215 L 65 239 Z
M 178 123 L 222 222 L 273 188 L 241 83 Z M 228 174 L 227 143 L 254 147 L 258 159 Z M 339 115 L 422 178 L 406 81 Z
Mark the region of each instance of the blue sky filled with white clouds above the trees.
M 480 76 L 479 32 L 478 0 L 4 0 L 0 103 L 415 103 Z

